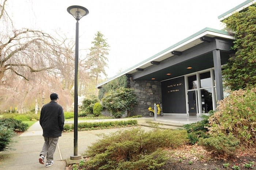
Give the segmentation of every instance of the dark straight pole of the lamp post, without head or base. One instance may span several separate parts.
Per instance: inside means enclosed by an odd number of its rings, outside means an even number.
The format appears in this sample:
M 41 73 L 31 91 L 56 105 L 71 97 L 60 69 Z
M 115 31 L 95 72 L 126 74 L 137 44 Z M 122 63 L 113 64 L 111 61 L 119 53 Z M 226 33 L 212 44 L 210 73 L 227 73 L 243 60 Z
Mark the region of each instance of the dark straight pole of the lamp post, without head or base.
M 74 156 L 78 155 L 78 39 L 79 19 L 76 19 L 76 48 L 75 48 L 75 104 L 74 104 Z

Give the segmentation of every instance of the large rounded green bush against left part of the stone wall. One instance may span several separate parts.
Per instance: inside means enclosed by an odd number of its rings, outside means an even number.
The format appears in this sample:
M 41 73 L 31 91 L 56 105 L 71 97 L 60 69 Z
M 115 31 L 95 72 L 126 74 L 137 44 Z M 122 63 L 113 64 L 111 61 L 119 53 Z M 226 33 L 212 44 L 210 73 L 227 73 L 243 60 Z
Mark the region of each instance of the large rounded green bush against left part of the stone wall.
M 129 117 L 129 113 L 137 103 L 137 97 L 134 89 L 121 87 L 106 93 L 102 103 L 115 118 L 121 118 L 125 111 Z

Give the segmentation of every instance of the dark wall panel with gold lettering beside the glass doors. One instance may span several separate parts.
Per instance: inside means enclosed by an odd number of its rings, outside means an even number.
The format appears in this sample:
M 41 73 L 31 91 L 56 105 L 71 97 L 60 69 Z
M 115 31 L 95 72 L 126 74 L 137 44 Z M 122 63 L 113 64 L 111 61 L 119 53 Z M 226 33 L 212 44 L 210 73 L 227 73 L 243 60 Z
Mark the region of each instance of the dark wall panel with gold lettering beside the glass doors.
M 162 82 L 163 113 L 187 113 L 184 77 Z

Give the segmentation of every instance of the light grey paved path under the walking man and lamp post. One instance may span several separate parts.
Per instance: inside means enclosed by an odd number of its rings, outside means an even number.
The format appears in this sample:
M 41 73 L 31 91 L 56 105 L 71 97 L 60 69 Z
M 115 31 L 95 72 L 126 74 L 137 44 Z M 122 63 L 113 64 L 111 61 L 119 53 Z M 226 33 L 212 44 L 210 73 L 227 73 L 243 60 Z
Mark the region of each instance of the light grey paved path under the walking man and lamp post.
M 150 129 L 148 127 L 143 127 Z M 83 154 L 91 143 L 99 139 L 97 134 L 109 134 L 121 129 L 104 129 L 95 131 L 78 132 L 78 153 Z M 45 169 L 45 165 L 38 162 L 39 152 L 44 144 L 42 136 L 42 128 L 39 122 L 33 124 L 26 132 L 20 136 L 14 137 L 17 141 L 11 148 L 14 150 L 4 151 L 0 153 L 0 170 L 41 170 Z M 59 137 L 59 143 L 54 153 L 54 165 L 47 167 L 47 170 L 65 170 L 65 159 L 74 154 L 74 133 L 63 133 Z

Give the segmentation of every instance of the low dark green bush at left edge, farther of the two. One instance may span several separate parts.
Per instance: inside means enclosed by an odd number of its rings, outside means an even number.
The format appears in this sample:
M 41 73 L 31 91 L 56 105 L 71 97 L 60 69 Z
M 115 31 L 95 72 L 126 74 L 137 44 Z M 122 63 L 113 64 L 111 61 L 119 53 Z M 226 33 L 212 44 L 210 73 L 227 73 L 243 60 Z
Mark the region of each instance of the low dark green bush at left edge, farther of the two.
M 28 124 L 24 124 L 19 120 L 15 120 L 13 118 L 3 118 L 0 119 L 0 125 L 4 125 L 7 128 L 11 129 L 12 131 L 26 131 L 29 127 Z

